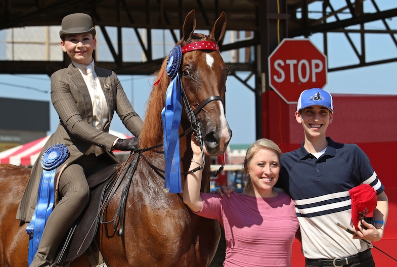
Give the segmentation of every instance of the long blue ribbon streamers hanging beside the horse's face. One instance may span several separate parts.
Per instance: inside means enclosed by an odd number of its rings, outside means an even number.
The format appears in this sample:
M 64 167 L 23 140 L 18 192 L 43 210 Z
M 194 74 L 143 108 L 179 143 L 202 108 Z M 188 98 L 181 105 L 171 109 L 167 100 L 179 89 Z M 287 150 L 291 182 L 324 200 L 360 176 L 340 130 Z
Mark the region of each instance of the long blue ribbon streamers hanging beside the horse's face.
M 181 116 L 181 83 L 179 75 L 177 75 L 168 85 L 165 95 L 165 107 L 161 111 L 164 131 L 165 187 L 170 193 L 182 192 L 179 152 Z

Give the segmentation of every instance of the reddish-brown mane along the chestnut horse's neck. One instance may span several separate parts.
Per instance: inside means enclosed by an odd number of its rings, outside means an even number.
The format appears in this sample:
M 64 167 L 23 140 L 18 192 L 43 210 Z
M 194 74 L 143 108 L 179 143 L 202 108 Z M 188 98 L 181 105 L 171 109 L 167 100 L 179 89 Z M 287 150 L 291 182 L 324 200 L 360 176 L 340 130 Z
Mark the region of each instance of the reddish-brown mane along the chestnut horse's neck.
M 139 136 L 141 148 L 151 147 L 163 143 L 163 123 L 161 110 L 165 105 L 165 93 L 170 82 L 165 67 L 167 60 L 164 60 L 160 70 L 157 72 L 157 85 L 153 85 L 152 92 L 145 110 L 145 121 L 141 135 Z

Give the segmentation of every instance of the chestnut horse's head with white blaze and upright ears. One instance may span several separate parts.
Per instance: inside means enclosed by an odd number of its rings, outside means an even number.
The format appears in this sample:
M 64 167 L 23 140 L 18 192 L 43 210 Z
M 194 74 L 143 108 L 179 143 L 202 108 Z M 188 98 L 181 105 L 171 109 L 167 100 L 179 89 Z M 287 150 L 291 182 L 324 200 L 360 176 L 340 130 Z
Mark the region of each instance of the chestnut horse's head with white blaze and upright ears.
M 220 155 L 232 137 L 225 117 L 226 78 L 229 74 L 227 65 L 217 50 L 217 42 L 223 37 L 226 28 L 224 12 L 216 20 L 209 35 L 195 34 L 195 11 L 185 19 L 183 38 L 178 42 L 182 47 L 183 61 L 181 81 L 190 104 L 200 125 L 203 142 L 210 155 Z M 201 44 L 215 44 L 216 50 L 206 50 Z M 185 49 L 190 50 L 186 52 Z M 186 119 L 186 114 L 184 115 Z

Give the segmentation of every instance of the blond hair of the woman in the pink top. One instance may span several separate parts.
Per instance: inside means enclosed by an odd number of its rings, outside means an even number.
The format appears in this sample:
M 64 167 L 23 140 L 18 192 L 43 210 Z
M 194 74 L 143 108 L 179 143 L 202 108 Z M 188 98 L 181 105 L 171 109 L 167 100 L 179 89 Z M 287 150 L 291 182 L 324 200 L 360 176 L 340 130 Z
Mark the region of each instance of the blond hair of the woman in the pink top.
M 280 160 L 281 156 L 281 150 L 279 146 L 276 145 L 272 140 L 266 139 L 266 138 L 261 138 L 256 140 L 254 143 L 252 143 L 251 146 L 249 146 L 247 150 L 247 154 L 245 155 L 244 158 L 244 172 L 245 174 L 248 173 L 248 166 L 251 163 L 252 158 L 255 156 L 255 154 L 261 150 L 261 149 L 268 149 L 273 151 L 276 155 L 277 158 Z M 249 190 L 251 187 L 251 179 L 247 179 L 247 182 L 245 183 L 244 186 L 244 191 Z

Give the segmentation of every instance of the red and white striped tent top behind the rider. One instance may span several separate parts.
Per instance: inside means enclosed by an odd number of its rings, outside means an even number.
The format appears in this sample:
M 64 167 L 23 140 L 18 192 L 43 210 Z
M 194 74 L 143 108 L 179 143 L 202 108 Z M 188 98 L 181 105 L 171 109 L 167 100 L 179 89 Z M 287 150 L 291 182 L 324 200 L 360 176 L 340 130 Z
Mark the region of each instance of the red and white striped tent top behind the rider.
M 113 130 L 109 130 L 109 133 L 122 139 L 132 137 Z M 50 136 L 43 137 L 27 144 L 0 152 L 0 163 L 13 164 L 17 166 L 33 166 L 38 155 L 40 154 L 41 149 L 44 147 L 49 138 Z M 113 153 L 118 154 L 126 152 L 114 150 Z M 127 153 L 129 154 L 129 152 Z

